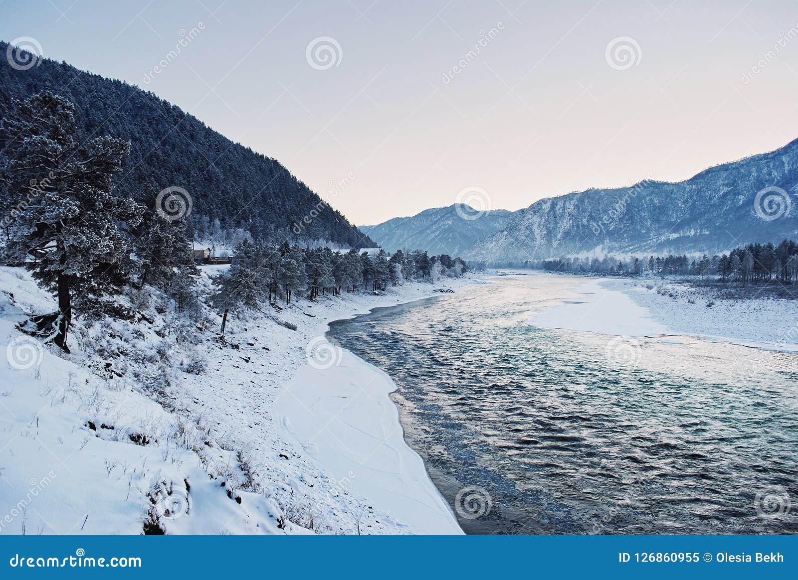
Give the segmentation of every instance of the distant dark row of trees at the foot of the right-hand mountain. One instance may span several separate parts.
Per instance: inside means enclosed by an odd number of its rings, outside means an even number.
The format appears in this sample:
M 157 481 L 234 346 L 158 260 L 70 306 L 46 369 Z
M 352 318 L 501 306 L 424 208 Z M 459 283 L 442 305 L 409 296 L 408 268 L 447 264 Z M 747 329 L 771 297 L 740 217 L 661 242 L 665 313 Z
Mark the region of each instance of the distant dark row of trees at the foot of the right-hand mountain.
M 681 256 L 629 257 L 612 256 L 563 257 L 555 260 L 525 261 L 518 267 L 535 268 L 550 272 L 595 272 L 609 276 L 629 276 L 643 273 L 677 274 L 681 276 L 717 276 L 722 281 L 784 283 L 798 281 L 798 244 L 784 240 L 779 245 L 749 244 L 729 253 L 692 260 Z

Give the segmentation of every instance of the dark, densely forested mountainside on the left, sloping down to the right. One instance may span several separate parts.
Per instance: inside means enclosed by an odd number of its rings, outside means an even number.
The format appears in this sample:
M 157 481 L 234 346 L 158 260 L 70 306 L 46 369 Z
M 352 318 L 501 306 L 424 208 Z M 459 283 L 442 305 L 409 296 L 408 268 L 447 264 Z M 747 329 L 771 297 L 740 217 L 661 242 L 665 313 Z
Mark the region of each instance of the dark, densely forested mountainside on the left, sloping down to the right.
M 0 53 L 7 47 L 0 42 Z M 0 61 L 0 118 L 13 99 L 45 90 L 73 101 L 78 139 L 112 135 L 130 141 L 131 153 L 115 179 L 120 193 L 152 208 L 160 190 L 188 190 L 189 225 L 199 237 L 219 220 L 223 228 L 243 227 L 277 242 L 374 245 L 276 159 L 233 143 L 152 92 L 49 59 L 26 70 Z

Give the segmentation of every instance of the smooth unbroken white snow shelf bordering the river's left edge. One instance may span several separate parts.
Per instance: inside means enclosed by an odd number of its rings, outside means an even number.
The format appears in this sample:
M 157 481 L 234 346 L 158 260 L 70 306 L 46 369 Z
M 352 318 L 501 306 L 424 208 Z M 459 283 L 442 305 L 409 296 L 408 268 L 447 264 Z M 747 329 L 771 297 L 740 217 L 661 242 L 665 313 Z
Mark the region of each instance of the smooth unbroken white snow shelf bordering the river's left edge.
M 407 530 L 461 534 L 429 480 L 424 461 L 403 439 L 396 385 L 349 351 L 330 368 L 303 366 L 279 395 L 283 425 L 328 472 L 380 506 Z

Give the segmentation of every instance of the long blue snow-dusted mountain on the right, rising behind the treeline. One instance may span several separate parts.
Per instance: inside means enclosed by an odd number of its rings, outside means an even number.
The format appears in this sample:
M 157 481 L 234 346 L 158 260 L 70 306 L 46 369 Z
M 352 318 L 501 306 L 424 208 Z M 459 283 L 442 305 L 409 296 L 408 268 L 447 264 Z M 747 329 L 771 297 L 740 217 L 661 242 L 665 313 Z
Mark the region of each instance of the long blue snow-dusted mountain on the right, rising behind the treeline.
M 545 198 L 463 257 L 522 261 L 589 253 L 722 253 L 798 232 L 798 139 L 678 183 Z

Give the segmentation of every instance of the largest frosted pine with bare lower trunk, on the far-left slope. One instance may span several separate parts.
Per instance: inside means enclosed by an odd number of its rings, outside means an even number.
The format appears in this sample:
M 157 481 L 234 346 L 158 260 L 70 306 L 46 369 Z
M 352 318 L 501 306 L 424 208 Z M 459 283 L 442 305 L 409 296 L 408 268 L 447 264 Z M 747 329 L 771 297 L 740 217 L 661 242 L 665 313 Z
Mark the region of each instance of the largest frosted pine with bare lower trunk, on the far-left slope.
M 57 296 L 53 341 L 65 351 L 73 301 L 96 300 L 127 280 L 128 228 L 143 214 L 111 187 L 129 143 L 79 143 L 74 110 L 69 100 L 41 92 L 15 100 L 0 123 L 0 182 L 15 208 L 6 249 Z

